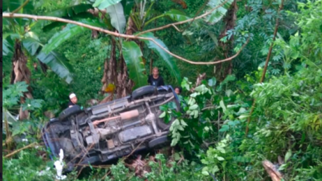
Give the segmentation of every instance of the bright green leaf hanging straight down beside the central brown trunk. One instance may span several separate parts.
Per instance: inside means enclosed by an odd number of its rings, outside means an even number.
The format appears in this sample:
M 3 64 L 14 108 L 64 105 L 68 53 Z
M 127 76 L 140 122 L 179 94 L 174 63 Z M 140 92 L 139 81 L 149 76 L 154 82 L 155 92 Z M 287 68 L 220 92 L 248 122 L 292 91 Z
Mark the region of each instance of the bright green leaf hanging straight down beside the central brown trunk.
M 135 82 L 135 89 L 146 85 L 146 76 L 142 52 L 139 45 L 134 41 L 123 41 L 122 43 L 123 58 L 129 69 L 129 76 Z

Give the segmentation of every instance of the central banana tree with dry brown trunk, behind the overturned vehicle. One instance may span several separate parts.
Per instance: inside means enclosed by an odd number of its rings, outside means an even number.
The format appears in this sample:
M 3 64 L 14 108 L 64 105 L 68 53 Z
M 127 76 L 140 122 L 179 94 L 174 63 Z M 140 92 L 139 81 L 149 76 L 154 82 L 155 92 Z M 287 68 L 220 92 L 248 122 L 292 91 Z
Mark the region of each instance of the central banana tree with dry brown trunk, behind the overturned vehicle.
M 211 13 L 203 18 L 203 20 L 194 21 L 193 25 L 198 25 L 201 21 L 202 23 L 209 24 L 216 23 L 225 14 L 226 8 L 229 7 L 231 2 L 232 0 L 211 0 L 206 9 L 206 11 L 211 11 Z M 191 19 L 185 15 L 185 13 L 177 9 L 171 9 L 167 12 L 159 13 L 158 16 L 154 17 L 151 12 L 155 0 L 88 0 L 86 3 L 92 4 L 94 8 L 101 11 L 105 25 L 99 26 L 100 28 L 107 28 L 108 30 L 114 30 L 127 35 L 134 35 L 142 32 L 145 27 L 158 18 L 166 17 L 173 21 L 185 21 Z M 214 7 L 221 3 L 225 3 L 225 5 L 214 10 Z M 106 12 L 106 14 L 102 13 L 103 11 Z M 107 14 L 108 16 L 106 16 Z M 46 51 L 54 50 L 60 45 L 60 43 L 63 43 L 72 36 L 76 36 L 77 34 L 85 31 L 81 28 L 78 29 L 79 31 L 72 31 L 68 36 L 64 36 L 64 30 L 56 33 L 55 36 L 50 39 L 49 44 L 46 45 Z M 165 43 L 151 33 L 140 36 L 153 38 L 159 44 L 162 44 L 163 48 L 167 49 Z M 116 85 L 117 95 L 118 97 L 122 97 L 129 93 L 133 86 L 136 88 L 147 83 L 144 56 L 142 54 L 144 43 L 147 48 L 159 55 L 160 59 L 166 63 L 172 76 L 180 82 L 180 74 L 174 57 L 167 54 L 162 48 L 158 47 L 153 42 L 134 40 L 135 43 L 129 43 L 128 40 L 122 38 L 111 37 L 111 39 L 112 48 L 110 51 L 110 57 L 107 58 L 105 63 L 102 79 L 102 91 L 111 87 L 111 84 Z M 117 46 L 117 49 L 114 46 Z M 116 57 L 116 50 L 119 52 L 118 58 Z M 141 53 L 138 52 L 139 50 Z M 130 80 L 128 80 L 129 78 Z

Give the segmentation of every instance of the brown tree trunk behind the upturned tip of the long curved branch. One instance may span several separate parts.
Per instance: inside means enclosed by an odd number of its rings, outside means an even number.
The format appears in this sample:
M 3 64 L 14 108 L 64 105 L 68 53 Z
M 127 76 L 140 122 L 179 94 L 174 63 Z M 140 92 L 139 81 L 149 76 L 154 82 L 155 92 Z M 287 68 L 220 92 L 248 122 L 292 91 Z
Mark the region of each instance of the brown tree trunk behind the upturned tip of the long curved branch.
M 234 29 L 236 19 L 237 19 L 237 16 L 236 16 L 237 10 L 238 10 L 237 0 L 234 0 L 234 2 L 231 4 L 230 8 L 228 9 L 227 15 L 224 18 L 225 28 L 221 32 L 219 39 L 226 36 L 226 33 L 228 30 Z M 224 58 L 228 58 L 228 57 L 230 57 L 229 52 L 231 51 L 231 49 L 234 48 L 234 36 L 232 35 L 230 37 L 230 39 L 227 39 L 226 43 L 219 41 L 218 44 L 219 44 L 219 46 L 222 47 Z M 228 74 L 232 73 L 232 70 L 233 70 L 233 62 L 232 61 L 218 64 L 216 66 L 216 73 L 217 73 L 218 79 L 220 81 L 224 80 Z

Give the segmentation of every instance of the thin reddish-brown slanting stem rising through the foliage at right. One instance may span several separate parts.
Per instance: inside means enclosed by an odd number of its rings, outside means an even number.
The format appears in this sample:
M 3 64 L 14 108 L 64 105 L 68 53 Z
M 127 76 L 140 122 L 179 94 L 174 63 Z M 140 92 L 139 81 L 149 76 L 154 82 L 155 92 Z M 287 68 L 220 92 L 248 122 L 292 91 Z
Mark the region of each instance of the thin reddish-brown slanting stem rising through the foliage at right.
M 267 67 L 268 67 L 268 62 L 271 58 L 271 54 L 272 54 L 272 49 L 273 49 L 273 45 L 274 45 L 274 41 L 276 39 L 276 35 L 277 35 L 277 31 L 278 31 L 278 28 L 279 28 L 279 15 L 282 11 L 284 7 L 284 0 L 281 1 L 281 5 L 280 5 L 280 8 L 277 12 L 277 17 L 276 17 L 276 24 L 275 24 L 275 29 L 274 29 L 274 33 L 273 33 L 273 41 L 269 47 L 269 50 L 268 50 L 268 54 L 267 54 L 267 57 L 266 57 L 266 61 L 265 61 L 265 66 L 264 66 L 264 70 L 263 70 L 263 73 L 262 73 L 262 76 L 260 78 L 260 81 L 259 83 L 262 83 L 265 79 L 265 74 L 266 74 L 266 71 L 267 71 Z M 246 126 L 246 131 L 245 131 L 245 136 L 247 137 L 247 134 L 248 134 L 248 131 L 249 131 L 249 125 L 250 125 L 250 119 L 251 119 L 251 114 L 253 113 L 254 109 L 255 109 L 255 105 L 256 105 L 256 100 L 253 99 L 253 102 L 252 102 L 252 106 L 251 106 L 251 109 L 250 109 L 250 116 L 248 117 L 247 119 L 247 126 Z

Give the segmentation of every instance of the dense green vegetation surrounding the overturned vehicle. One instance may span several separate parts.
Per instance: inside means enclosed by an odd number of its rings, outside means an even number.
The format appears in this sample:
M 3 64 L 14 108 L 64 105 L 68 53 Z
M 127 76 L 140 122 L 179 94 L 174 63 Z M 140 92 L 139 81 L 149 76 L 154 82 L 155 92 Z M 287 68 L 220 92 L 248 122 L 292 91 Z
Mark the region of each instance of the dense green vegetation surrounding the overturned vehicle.
M 203 18 L 139 35 L 164 49 L 63 22 L 2 18 L 2 111 L 20 115 L 17 122 L 3 116 L 4 180 L 53 180 L 40 128 L 49 120 L 45 112 L 67 107 L 70 92 L 84 107 L 90 99 L 123 97 L 146 85 L 156 66 L 167 84 L 183 88 L 183 112 L 162 107 L 165 119 L 177 118 L 170 135 L 175 153 L 157 154 L 144 177 L 120 161 L 89 166 L 68 181 L 269 181 L 264 160 L 285 181 L 322 181 L 322 0 L 25 2 L 4 0 L 3 11 L 61 17 L 126 36 L 225 4 Z M 22 134 L 27 142 L 17 139 Z

